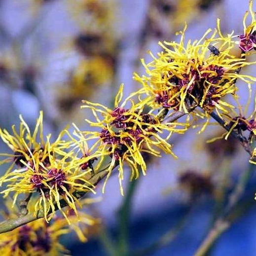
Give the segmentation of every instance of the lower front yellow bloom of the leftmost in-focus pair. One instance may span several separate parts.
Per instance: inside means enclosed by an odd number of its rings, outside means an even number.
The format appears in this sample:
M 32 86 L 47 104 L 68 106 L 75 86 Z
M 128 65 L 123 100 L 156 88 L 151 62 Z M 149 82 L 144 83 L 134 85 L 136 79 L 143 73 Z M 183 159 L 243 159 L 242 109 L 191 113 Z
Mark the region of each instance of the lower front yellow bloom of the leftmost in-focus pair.
M 48 143 L 48 150 L 50 148 Z M 4 194 L 4 197 L 9 193 L 14 193 L 13 204 L 20 194 L 33 193 L 37 198 L 34 204 L 35 213 L 43 209 L 44 218 L 48 221 L 55 213 L 55 209 L 59 209 L 70 223 L 68 216 L 62 210 L 61 200 L 65 200 L 78 216 L 75 204 L 78 201 L 76 193 L 88 191 L 95 193 L 94 185 L 87 181 L 91 170 L 81 169 L 84 161 L 83 159 L 78 161 L 73 151 L 57 160 L 51 154 L 48 153 L 48 155 L 49 164 L 47 166 L 43 165 L 38 158 L 35 158 L 32 166 L 21 160 L 24 164 L 23 169 L 7 173 L 0 178 L 0 183 L 8 183 L 7 188 L 1 193 Z M 47 216 L 50 212 L 51 214 Z

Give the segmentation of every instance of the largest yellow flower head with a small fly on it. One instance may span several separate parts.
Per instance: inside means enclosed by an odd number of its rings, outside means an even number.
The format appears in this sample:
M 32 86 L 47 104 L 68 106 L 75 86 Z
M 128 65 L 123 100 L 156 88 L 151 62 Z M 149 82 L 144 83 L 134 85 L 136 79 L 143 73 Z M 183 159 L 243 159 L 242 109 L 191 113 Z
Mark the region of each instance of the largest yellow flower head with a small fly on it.
M 226 109 L 233 106 L 223 101 L 223 97 L 236 97 L 236 80 L 256 81 L 253 76 L 239 74 L 242 67 L 253 63 L 231 54 L 236 44 L 233 32 L 224 37 L 219 20 L 217 25 L 218 29 L 210 38 L 206 39 L 211 29 L 201 39 L 188 40 L 187 44 L 184 44 L 185 26 L 178 33 L 181 34 L 180 42 L 159 42 L 164 51 L 157 57 L 149 52 L 153 61 L 148 64 L 142 60 L 147 75 L 135 73 L 134 79 L 143 84 L 146 94 L 151 97 L 150 107 L 157 109 L 162 106 L 187 112 L 189 105 L 195 104 L 206 113 L 214 109 L 218 113 L 227 113 Z M 216 37 L 217 33 L 219 37 Z

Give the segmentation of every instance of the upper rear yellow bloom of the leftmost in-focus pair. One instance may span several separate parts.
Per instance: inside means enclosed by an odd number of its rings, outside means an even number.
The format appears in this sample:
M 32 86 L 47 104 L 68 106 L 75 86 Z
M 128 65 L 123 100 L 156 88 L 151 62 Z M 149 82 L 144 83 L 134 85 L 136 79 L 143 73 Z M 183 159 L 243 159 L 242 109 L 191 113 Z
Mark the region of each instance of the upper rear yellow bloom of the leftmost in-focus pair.
M 13 154 L 0 153 L 0 156 L 7 157 L 0 161 L 0 165 L 9 162 L 12 163 L 7 173 L 9 173 L 15 165 L 17 168 L 23 168 L 25 166 L 24 163 L 32 165 L 36 161 L 36 156 L 38 158 L 37 160 L 47 166 L 49 164 L 49 155 L 55 157 L 56 154 L 66 154 L 64 150 L 69 148 L 69 142 L 61 140 L 63 132 L 60 133 L 52 144 L 49 143 L 50 134 L 47 136 L 47 141 L 44 141 L 42 111 L 40 111 L 33 133 L 30 131 L 29 126 L 21 115 L 20 120 L 19 133 L 16 131 L 14 125 L 12 126 L 13 135 L 5 129 L 0 129 L 0 138 L 13 151 Z

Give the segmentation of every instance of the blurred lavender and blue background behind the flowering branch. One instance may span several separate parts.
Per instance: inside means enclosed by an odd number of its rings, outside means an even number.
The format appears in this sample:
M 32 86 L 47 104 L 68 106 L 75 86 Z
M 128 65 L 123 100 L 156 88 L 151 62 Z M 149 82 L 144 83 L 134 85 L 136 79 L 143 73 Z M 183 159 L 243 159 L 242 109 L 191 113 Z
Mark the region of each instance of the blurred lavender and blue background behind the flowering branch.
M 72 122 L 88 129 L 81 100 L 112 106 L 121 82 L 125 96 L 140 88 L 133 72 L 144 72 L 140 59 L 149 61 L 147 50 L 159 51 L 159 40 L 178 40 L 184 22 L 186 39 L 201 38 L 217 18 L 223 33 L 240 35 L 248 7 L 249 0 L 0 0 L 0 127 L 10 130 L 19 114 L 34 127 L 43 110 L 45 134 L 54 137 Z M 240 93 L 247 97 L 246 87 Z M 102 201 L 90 211 L 101 224 L 90 228 L 85 244 L 64 236 L 71 254 L 193 255 L 249 170 L 232 225 L 209 255 L 255 256 L 253 166 L 232 138 L 206 143 L 221 128 L 197 132 L 171 138 L 178 160 L 148 156 L 147 175 L 132 183 L 127 170 L 124 197 L 116 176 L 103 195 L 100 184 Z

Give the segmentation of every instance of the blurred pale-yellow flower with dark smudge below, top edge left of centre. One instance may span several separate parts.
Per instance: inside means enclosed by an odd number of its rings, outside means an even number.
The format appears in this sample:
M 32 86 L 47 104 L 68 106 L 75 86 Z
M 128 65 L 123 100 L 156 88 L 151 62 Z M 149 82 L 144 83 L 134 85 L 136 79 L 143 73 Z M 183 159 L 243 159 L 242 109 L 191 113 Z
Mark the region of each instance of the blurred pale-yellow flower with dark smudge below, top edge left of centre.
M 114 0 L 76 0 L 71 3 L 69 12 L 81 31 L 74 37 L 73 45 L 83 56 L 101 56 L 114 63 L 119 45 L 115 29 L 116 6 Z

